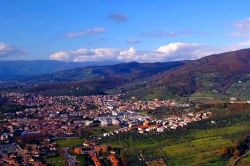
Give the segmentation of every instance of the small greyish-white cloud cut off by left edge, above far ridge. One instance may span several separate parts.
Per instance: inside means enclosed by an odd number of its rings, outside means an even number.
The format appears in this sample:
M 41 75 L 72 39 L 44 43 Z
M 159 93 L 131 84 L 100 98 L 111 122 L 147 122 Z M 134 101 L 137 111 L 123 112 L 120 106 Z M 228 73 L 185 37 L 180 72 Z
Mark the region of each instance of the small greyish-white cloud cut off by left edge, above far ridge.
M 0 42 L 0 59 L 3 59 L 3 58 L 8 59 L 8 58 L 20 56 L 23 54 L 24 52 L 20 48 L 6 44 L 4 42 Z

